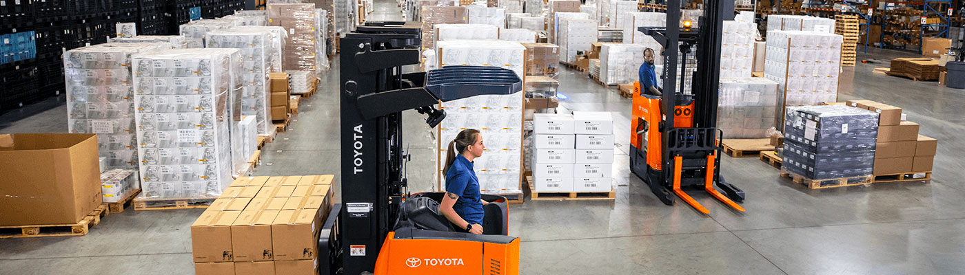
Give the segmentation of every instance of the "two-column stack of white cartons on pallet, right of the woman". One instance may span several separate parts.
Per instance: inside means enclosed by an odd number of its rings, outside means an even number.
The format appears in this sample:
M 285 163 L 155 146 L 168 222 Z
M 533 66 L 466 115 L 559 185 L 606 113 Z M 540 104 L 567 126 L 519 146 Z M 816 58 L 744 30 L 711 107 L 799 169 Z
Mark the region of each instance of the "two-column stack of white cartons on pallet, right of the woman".
M 534 191 L 612 189 L 614 137 L 609 112 L 535 113 L 533 122 Z

